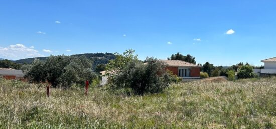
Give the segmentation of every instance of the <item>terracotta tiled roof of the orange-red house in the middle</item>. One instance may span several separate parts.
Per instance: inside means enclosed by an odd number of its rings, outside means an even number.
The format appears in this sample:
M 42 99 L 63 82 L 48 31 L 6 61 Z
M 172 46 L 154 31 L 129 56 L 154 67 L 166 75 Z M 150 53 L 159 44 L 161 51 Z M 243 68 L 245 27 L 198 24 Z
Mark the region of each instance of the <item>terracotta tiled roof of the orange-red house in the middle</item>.
M 182 60 L 161 60 L 165 62 L 168 66 L 178 66 L 178 67 L 201 67 L 199 65 L 189 63 Z

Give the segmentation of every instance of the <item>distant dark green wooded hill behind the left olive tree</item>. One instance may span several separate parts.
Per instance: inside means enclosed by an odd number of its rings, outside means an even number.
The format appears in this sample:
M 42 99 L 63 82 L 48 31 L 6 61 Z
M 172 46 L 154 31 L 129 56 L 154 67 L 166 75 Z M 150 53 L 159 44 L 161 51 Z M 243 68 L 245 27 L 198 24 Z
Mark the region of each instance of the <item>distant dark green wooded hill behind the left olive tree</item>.
M 98 64 L 107 64 L 109 60 L 115 59 L 115 55 L 112 53 L 85 53 L 85 54 L 77 54 L 77 55 L 71 55 L 71 56 L 85 56 L 89 59 L 91 59 L 93 63 L 93 68 L 95 68 Z M 21 64 L 30 64 L 35 59 L 39 60 L 46 60 L 48 57 L 36 57 L 36 58 L 27 58 L 27 59 L 20 59 L 14 61 L 15 63 L 21 63 Z

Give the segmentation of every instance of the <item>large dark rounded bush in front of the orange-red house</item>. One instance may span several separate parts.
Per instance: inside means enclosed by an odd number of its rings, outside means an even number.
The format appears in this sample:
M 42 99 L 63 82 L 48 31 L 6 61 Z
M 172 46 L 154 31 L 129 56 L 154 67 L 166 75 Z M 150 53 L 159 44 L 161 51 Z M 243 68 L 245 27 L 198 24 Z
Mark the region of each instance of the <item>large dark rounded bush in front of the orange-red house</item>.
M 120 71 L 110 76 L 111 87 L 132 89 L 135 94 L 159 93 L 179 78 L 165 70 L 162 61 L 147 58 L 147 63 L 131 60 Z

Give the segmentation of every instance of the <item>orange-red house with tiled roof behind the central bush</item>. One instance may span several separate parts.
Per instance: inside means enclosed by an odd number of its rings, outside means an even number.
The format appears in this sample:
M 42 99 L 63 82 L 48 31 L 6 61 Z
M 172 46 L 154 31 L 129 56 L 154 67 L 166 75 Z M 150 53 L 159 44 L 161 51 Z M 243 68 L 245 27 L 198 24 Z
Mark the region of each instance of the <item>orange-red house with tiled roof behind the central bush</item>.
M 161 60 L 167 66 L 166 69 L 183 79 L 200 79 L 201 66 L 182 60 Z

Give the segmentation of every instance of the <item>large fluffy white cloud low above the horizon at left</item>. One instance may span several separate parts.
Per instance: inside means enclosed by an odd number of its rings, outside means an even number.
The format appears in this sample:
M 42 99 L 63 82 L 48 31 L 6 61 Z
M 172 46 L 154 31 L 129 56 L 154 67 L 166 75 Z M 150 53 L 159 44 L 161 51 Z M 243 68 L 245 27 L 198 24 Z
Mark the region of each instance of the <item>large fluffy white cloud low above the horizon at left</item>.
M 0 56 L 9 59 L 23 59 L 30 57 L 40 57 L 43 56 L 38 52 L 38 50 L 30 47 L 26 47 L 23 44 L 10 45 L 8 47 L 0 46 Z

